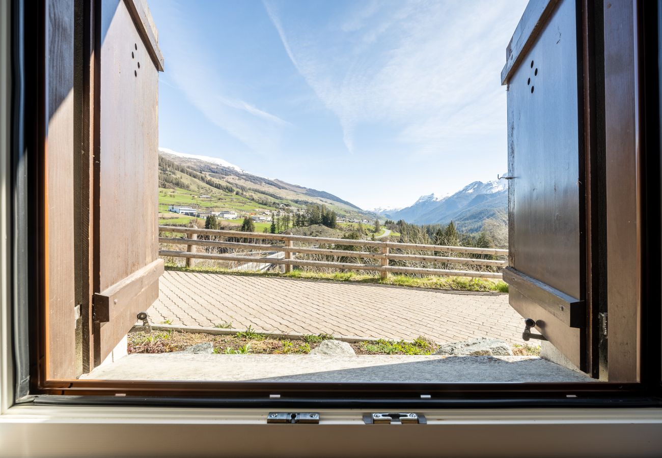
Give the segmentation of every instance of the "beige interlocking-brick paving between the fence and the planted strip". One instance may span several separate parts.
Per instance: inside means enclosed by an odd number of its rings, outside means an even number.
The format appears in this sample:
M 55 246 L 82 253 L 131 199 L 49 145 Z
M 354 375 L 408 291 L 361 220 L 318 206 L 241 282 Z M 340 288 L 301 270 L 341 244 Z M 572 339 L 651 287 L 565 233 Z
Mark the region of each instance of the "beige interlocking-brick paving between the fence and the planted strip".
M 152 322 L 252 326 L 301 332 L 436 342 L 494 337 L 522 343 L 522 317 L 500 293 L 459 293 L 385 285 L 166 271 Z

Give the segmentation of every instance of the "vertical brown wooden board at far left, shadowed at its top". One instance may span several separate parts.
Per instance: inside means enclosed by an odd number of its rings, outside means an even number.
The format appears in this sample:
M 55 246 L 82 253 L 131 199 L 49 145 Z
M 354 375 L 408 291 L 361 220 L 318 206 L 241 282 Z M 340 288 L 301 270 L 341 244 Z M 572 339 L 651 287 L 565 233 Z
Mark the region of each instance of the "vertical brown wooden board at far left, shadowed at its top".
M 73 279 L 73 0 L 44 2 L 45 375 L 76 373 Z

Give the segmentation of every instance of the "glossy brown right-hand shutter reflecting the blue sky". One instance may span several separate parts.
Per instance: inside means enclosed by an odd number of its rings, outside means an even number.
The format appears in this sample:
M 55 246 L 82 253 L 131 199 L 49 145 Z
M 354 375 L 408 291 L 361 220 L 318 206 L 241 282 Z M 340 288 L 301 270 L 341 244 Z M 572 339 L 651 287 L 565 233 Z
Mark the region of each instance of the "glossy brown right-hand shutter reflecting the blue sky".
M 587 370 L 585 165 L 578 2 L 531 2 L 508 84 L 510 304 Z M 524 322 L 522 322 L 524 330 Z

